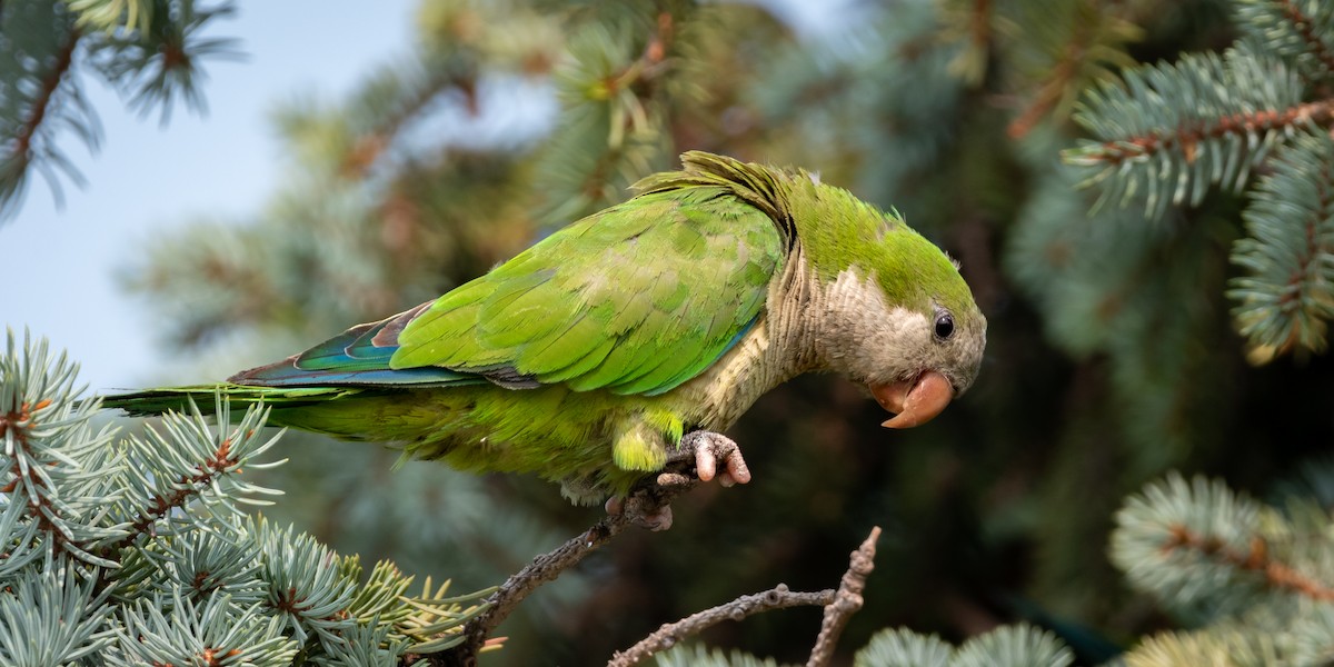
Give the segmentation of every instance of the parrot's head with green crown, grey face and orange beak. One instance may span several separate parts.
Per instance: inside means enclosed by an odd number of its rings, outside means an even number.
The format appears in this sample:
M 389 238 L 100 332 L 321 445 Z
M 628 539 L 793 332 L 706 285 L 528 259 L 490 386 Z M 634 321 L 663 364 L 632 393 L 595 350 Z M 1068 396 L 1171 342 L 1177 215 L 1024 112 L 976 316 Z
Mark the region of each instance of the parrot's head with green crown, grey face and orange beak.
M 986 317 L 958 264 L 896 215 L 816 189 L 819 208 L 842 217 L 802 229 L 823 292 L 823 364 L 870 387 L 895 414 L 886 427 L 923 424 L 972 386 Z

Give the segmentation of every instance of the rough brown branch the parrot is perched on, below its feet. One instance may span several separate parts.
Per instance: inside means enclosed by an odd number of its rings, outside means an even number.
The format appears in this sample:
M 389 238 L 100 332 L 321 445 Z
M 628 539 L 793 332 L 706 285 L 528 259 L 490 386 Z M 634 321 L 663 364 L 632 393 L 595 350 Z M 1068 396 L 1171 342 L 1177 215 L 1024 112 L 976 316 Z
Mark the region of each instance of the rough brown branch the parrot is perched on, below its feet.
M 694 462 L 691 460 L 688 464 L 692 466 Z M 683 468 L 686 464 L 672 466 L 671 471 L 648 478 L 630 492 L 619 514 L 606 516 L 583 534 L 554 551 L 535 558 L 527 567 L 506 579 L 500 588 L 486 599 L 487 610 L 463 627 L 463 643 L 450 651 L 430 656 L 431 664 L 475 667 L 478 654 L 486 646 L 487 635 L 508 618 L 510 612 L 532 591 L 579 564 L 588 554 L 611 542 L 626 528 L 655 524 L 659 512 L 667 508 L 672 499 L 698 484 L 692 478 L 676 472 L 674 470 L 676 467 Z

